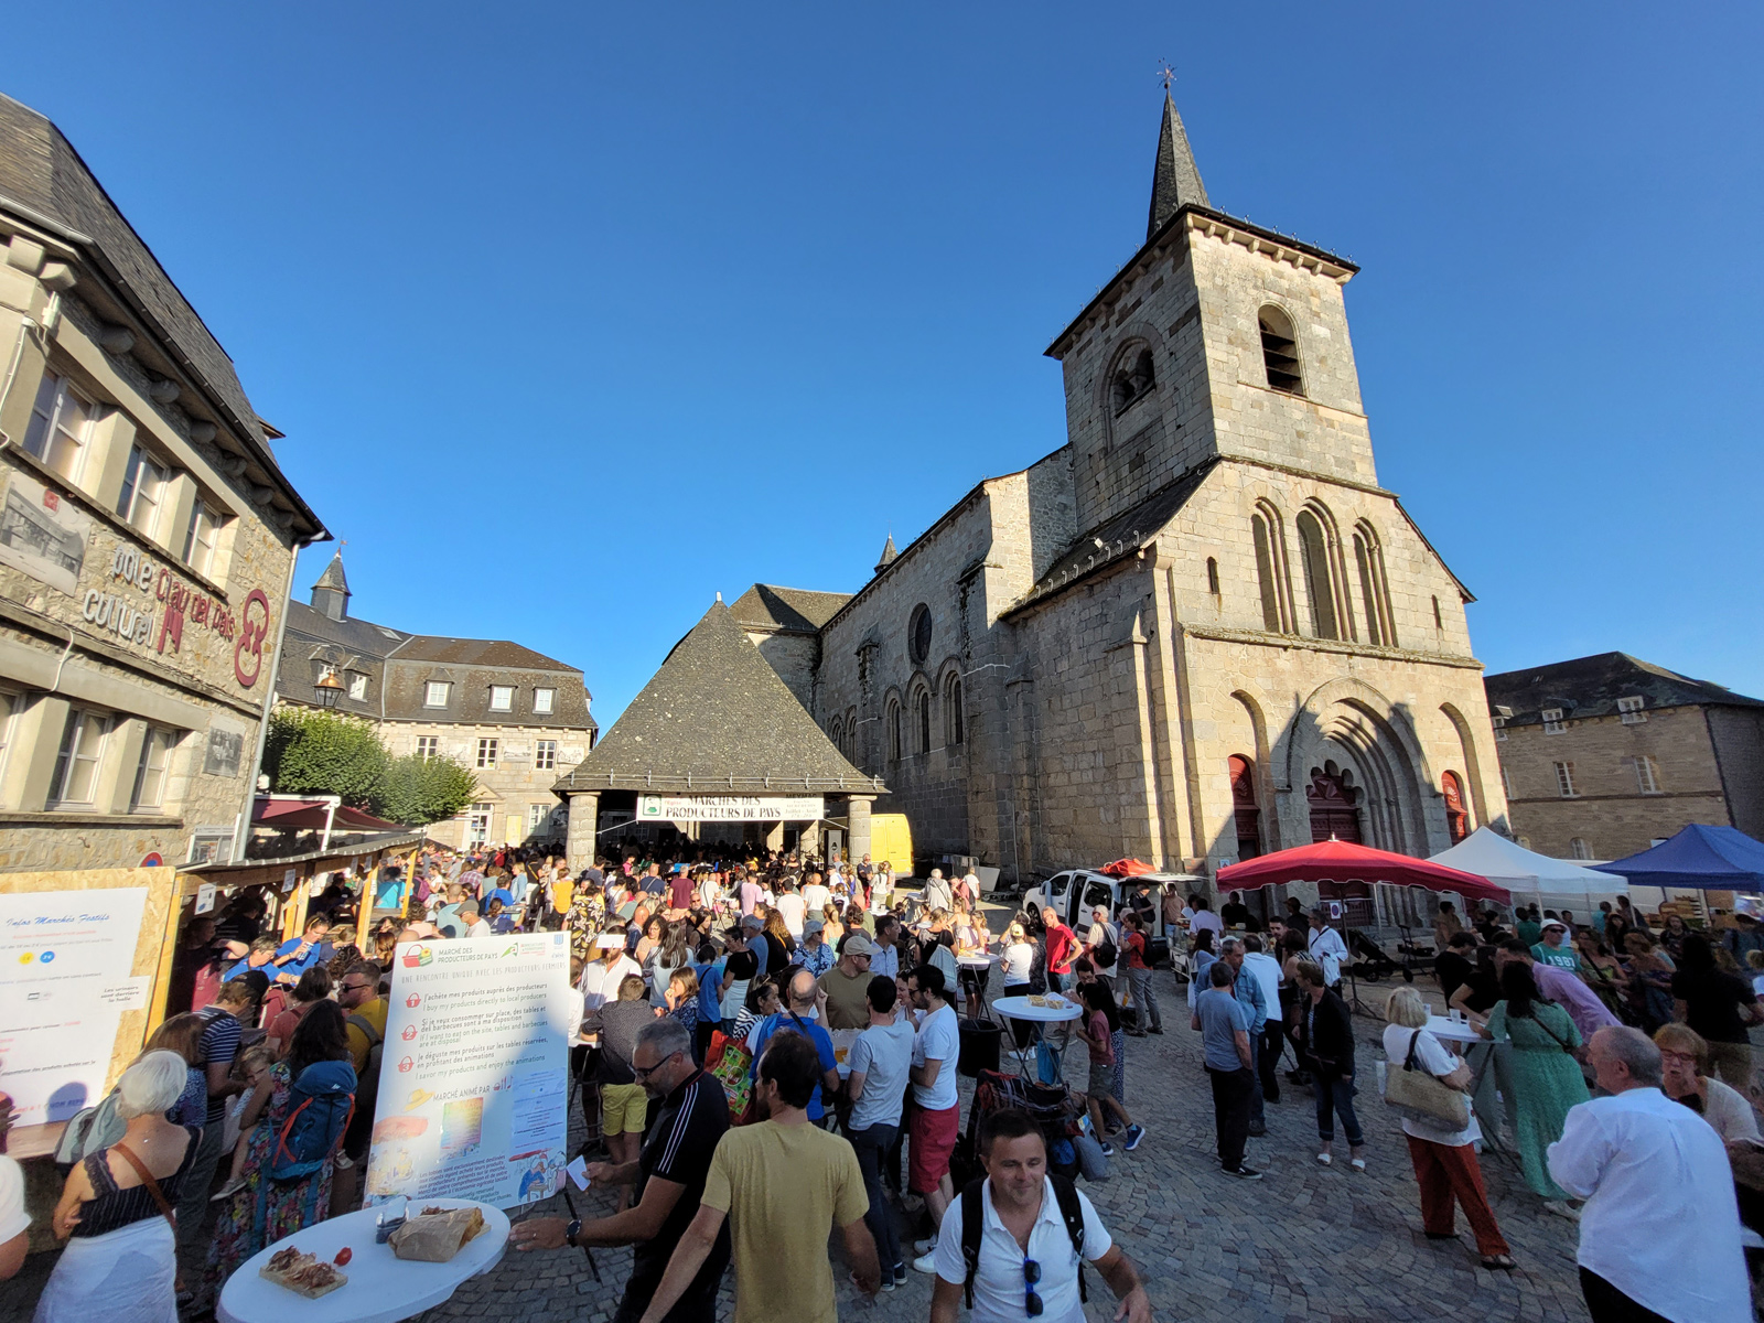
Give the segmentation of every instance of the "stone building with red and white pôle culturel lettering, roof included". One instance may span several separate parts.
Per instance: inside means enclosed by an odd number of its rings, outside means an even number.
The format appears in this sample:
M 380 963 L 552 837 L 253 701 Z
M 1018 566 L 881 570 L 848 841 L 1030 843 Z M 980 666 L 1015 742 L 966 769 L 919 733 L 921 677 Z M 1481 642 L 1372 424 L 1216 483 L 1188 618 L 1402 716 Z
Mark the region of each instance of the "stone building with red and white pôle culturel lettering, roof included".
M 0 198 L 28 203 L 0 201 L 0 870 L 233 857 L 325 529 L 201 319 L 4 97 Z

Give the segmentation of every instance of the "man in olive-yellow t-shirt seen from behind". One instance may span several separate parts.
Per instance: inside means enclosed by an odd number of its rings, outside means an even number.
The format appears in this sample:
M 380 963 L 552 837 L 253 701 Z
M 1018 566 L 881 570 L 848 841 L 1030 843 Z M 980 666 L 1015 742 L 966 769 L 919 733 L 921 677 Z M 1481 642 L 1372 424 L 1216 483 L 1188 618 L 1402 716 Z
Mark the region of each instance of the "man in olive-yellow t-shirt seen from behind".
M 674 1247 L 642 1323 L 667 1318 L 716 1244 L 725 1217 L 734 1238 L 734 1323 L 838 1323 L 829 1224 L 843 1233 L 857 1289 L 868 1297 L 880 1289 L 857 1154 L 847 1140 L 808 1124 L 808 1099 L 818 1080 L 815 1044 L 796 1032 L 771 1037 L 753 1087 L 767 1118 L 716 1141 L 699 1215 Z

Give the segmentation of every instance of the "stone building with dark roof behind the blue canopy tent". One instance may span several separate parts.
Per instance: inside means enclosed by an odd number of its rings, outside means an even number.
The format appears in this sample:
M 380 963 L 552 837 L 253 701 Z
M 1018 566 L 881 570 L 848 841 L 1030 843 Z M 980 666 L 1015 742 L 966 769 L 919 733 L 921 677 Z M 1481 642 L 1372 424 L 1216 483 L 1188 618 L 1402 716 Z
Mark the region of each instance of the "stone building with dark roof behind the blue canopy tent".
M 1681 827 L 1764 838 L 1764 702 L 1628 653 L 1484 681 L 1514 834 L 1621 859 Z

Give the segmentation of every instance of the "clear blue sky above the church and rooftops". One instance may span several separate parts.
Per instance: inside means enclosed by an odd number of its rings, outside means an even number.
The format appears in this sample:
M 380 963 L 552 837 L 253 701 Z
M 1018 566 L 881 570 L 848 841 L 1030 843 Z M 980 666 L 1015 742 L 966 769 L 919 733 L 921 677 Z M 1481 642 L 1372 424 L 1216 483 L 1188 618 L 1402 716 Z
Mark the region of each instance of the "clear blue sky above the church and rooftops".
M 1064 443 L 1053 335 L 1212 201 L 1362 265 L 1379 478 L 1491 670 L 1764 693 L 1755 5 L 97 5 L 9 16 L 355 610 L 584 669 L 856 589 Z M 300 589 L 332 547 L 309 549 Z

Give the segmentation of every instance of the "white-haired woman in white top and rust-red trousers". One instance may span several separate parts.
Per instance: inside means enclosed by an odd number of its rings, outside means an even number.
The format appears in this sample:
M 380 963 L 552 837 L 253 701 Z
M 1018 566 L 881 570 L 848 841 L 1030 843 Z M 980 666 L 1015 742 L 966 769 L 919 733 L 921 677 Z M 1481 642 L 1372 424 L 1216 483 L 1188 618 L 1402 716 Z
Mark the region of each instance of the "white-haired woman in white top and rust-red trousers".
M 1385 1020 L 1390 1021 L 1385 1025 L 1385 1057 L 1390 1058 L 1387 1073 L 1404 1069 L 1413 1055 L 1416 1071 L 1427 1071 L 1446 1088 L 1469 1088 L 1469 1065 L 1427 1032 L 1427 1005 L 1418 991 L 1397 988 L 1390 993 L 1390 1000 L 1385 1002 Z M 1461 1131 L 1446 1122 L 1402 1118 L 1409 1161 L 1415 1162 L 1415 1182 L 1422 1187 L 1422 1230 L 1429 1240 L 1457 1240 L 1452 1207 L 1455 1198 L 1464 1207 L 1464 1217 L 1476 1237 L 1482 1267 L 1512 1272 L 1514 1256 L 1501 1237 L 1501 1228 L 1494 1222 L 1489 1191 L 1482 1184 L 1482 1166 L 1476 1162 L 1475 1145 L 1482 1138 L 1482 1129 L 1476 1125 L 1476 1115 L 1469 1111 L 1469 1099 L 1464 1101 L 1464 1111 L 1469 1124 Z

